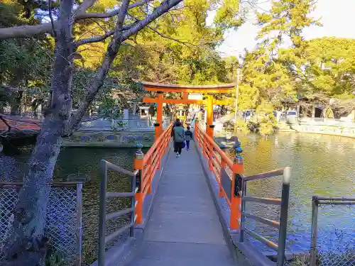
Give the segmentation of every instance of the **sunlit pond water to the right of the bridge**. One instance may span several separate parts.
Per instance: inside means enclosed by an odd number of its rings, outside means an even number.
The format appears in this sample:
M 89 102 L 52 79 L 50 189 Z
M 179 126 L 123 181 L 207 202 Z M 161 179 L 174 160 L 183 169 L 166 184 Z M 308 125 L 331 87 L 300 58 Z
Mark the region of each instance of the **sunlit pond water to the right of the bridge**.
M 280 167 L 292 168 L 288 215 L 288 250 L 310 248 L 312 196 L 355 198 L 355 139 L 331 135 L 278 133 L 269 138 L 260 135 L 239 136 L 244 150 L 246 175 Z M 234 156 L 233 150 L 229 150 Z M 253 196 L 280 196 L 282 177 L 248 183 Z M 249 213 L 278 220 L 279 207 L 247 204 Z M 248 221 L 248 219 L 246 219 Z M 277 243 L 277 232 L 251 222 L 259 234 Z M 355 246 L 355 206 L 321 206 L 318 243 L 328 248 Z M 256 243 L 261 246 L 263 245 Z

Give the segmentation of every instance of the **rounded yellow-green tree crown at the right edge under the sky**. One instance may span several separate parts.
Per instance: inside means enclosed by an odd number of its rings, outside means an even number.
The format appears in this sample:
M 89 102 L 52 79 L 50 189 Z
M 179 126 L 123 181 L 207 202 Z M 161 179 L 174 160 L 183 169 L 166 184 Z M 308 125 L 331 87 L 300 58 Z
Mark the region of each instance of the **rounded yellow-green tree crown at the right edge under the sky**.
M 324 37 L 300 48 L 280 50 L 280 61 L 295 70 L 302 93 L 343 97 L 354 91 L 355 40 Z M 302 71 L 300 71 L 302 69 Z

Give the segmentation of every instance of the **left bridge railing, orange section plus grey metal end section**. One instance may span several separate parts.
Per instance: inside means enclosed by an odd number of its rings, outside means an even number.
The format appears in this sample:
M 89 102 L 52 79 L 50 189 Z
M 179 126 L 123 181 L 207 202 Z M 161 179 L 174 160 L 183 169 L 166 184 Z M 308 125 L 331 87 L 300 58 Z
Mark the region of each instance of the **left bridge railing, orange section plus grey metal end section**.
M 173 125 L 171 124 L 163 133 L 156 138 L 153 146 L 148 150 L 146 155 L 143 155 L 141 148 L 143 145 L 138 145 L 138 150 L 134 158 L 134 172 L 125 170 L 117 165 L 101 160 L 100 172 L 102 179 L 100 181 L 100 197 L 99 197 L 99 266 L 105 265 L 105 250 L 106 244 L 119 237 L 121 233 L 129 230 L 129 235 L 134 236 L 135 224 L 140 224 L 143 221 L 143 201 L 146 194 L 151 194 L 151 184 L 156 170 L 160 167 L 160 160 L 165 154 L 165 148 L 170 143 L 170 133 Z M 131 192 L 107 192 L 107 173 L 108 171 L 119 172 L 131 177 Z M 131 206 L 127 209 L 115 211 L 107 214 L 107 199 L 129 197 L 131 198 Z M 130 223 L 114 231 L 110 235 L 106 235 L 106 222 L 119 218 L 123 215 L 131 214 Z

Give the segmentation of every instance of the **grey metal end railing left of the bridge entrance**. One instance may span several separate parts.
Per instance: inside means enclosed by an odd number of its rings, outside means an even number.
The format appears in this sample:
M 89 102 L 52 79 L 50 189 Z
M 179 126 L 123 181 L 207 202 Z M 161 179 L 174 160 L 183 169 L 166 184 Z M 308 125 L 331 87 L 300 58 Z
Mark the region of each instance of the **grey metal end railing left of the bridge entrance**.
M 119 172 L 121 174 L 129 175 L 129 177 L 131 177 L 132 191 L 131 192 L 107 192 L 107 172 L 109 170 L 114 172 Z M 138 174 L 138 170 L 134 172 L 130 172 L 117 165 L 112 164 L 111 162 L 107 162 L 106 160 L 101 160 L 100 172 L 102 175 L 102 179 L 100 180 L 100 196 L 99 196 L 99 266 L 104 266 L 106 243 L 108 243 L 111 240 L 114 240 L 114 238 L 118 237 L 121 233 L 123 233 L 128 229 L 129 229 L 129 235 L 131 237 L 134 236 L 133 226 L 137 218 L 135 214 L 135 208 L 136 208 L 136 204 L 138 203 L 135 200 L 136 193 L 138 192 L 138 187 L 136 187 L 136 176 Z M 107 214 L 106 212 L 107 199 L 115 198 L 115 197 L 130 197 L 131 207 Z M 114 231 L 114 233 L 111 233 L 110 235 L 106 235 L 106 222 L 114 218 L 119 218 L 126 214 L 131 214 L 131 222 L 126 226 L 119 228 L 119 230 Z

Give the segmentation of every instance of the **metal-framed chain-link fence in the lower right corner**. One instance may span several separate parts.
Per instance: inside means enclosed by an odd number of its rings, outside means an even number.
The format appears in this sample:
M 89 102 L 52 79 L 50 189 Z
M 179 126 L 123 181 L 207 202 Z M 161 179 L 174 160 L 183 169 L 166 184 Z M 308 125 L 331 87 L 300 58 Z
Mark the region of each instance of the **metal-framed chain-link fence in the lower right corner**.
M 331 208 L 349 208 L 347 212 L 353 216 L 355 199 L 313 196 L 310 266 L 355 266 L 355 218 L 349 221 L 352 230 L 343 229 L 342 224 L 320 226 L 318 221 L 322 221 L 322 216 L 335 213 Z

